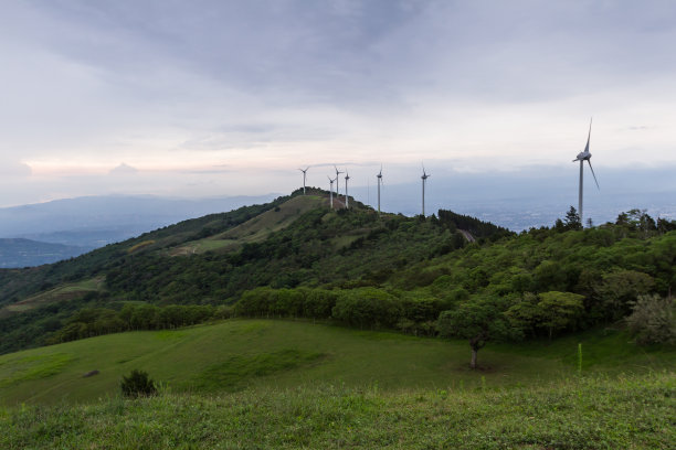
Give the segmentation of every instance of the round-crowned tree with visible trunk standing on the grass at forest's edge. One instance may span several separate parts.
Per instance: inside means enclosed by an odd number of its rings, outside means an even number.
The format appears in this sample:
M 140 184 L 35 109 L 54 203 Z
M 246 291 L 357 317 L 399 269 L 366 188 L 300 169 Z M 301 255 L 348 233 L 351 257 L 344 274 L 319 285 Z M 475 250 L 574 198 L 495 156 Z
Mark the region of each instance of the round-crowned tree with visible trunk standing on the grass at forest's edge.
M 456 336 L 469 341 L 469 367 L 476 368 L 477 354 L 487 342 L 516 338 L 519 333 L 505 317 L 499 298 L 473 299 L 456 310 L 439 315 L 437 330 L 442 336 Z

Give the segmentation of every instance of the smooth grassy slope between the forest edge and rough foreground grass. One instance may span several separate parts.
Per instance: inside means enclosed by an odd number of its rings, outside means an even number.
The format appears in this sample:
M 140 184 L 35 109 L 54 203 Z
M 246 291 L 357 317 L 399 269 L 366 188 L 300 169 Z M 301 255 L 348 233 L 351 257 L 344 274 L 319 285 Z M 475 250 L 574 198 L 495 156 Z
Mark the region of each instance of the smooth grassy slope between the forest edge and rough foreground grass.
M 468 346 L 462 341 L 306 322 L 231 320 L 177 331 L 113 334 L 0 356 L 0 404 L 114 396 L 122 375 L 134 368 L 148 371 L 173 392 L 198 393 L 327 384 L 453 390 L 483 383 L 490 387 L 541 384 L 577 373 L 574 341 L 567 346 L 531 346 L 524 354 L 494 349 L 479 353 L 479 363 L 488 368 L 472 372 Z M 645 372 L 640 351 L 619 351 L 625 354 L 616 361 L 615 373 Z M 674 352 L 663 356 L 648 368 L 673 371 Z M 94 369 L 101 374 L 83 378 Z M 603 373 L 609 373 L 608 367 Z

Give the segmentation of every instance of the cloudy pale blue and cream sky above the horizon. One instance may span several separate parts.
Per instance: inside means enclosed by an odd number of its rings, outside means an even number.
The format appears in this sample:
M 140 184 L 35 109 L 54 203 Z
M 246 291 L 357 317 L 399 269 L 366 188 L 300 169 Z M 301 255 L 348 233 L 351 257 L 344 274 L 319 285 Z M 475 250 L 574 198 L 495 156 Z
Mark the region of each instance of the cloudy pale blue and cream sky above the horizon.
M 600 181 L 658 189 L 674 42 L 668 0 L 4 0 L 0 206 L 288 193 L 334 164 L 355 192 L 423 162 L 574 184 L 592 117 Z

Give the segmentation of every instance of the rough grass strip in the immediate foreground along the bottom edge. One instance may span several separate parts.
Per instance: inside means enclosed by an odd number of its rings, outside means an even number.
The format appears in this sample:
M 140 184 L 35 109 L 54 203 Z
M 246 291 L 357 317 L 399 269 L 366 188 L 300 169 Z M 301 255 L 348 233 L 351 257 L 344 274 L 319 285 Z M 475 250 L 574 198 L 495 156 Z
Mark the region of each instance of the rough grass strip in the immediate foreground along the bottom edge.
M 0 447 L 109 449 L 669 449 L 676 377 L 510 389 L 323 385 L 0 409 Z

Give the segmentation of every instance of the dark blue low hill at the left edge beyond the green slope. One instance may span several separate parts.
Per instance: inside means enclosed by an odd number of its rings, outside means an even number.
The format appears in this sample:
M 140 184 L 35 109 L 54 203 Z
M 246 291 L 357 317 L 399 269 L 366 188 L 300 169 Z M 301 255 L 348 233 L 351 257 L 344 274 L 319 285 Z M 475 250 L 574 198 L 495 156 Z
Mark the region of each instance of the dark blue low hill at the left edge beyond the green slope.
M 89 250 L 92 250 L 89 247 L 40 243 L 22 238 L 0 238 L 0 267 L 41 266 L 80 256 Z

